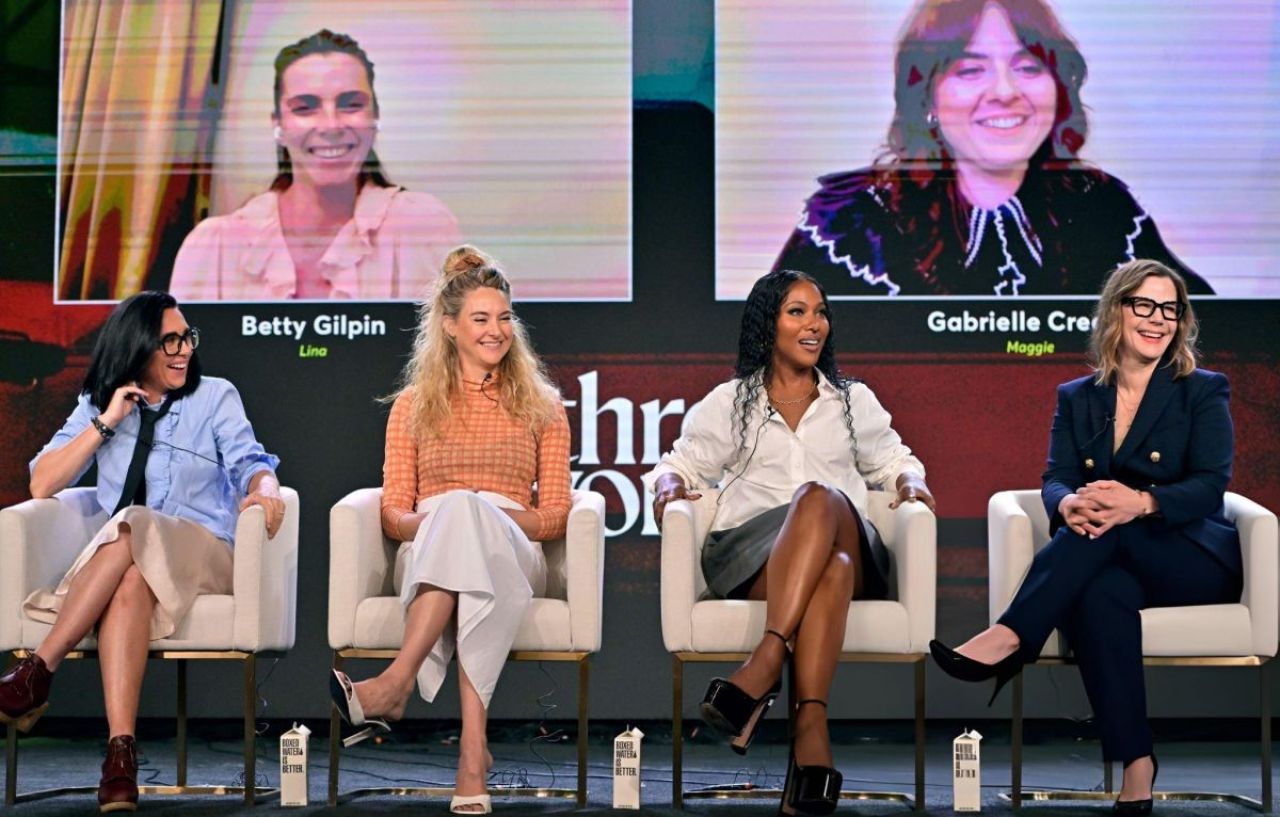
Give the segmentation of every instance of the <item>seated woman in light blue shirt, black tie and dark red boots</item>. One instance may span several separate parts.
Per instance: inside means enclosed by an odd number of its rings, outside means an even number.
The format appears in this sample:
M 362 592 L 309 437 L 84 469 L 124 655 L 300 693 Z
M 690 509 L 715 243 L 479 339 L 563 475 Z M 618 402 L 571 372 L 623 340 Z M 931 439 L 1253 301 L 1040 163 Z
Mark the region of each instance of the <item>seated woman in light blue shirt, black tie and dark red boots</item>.
M 111 514 L 70 570 L 23 612 L 52 629 L 0 677 L 0 721 L 26 731 L 44 713 L 67 653 L 97 631 L 110 729 L 99 805 L 137 807 L 133 739 L 150 642 L 172 635 L 196 595 L 230 593 L 236 517 L 284 517 L 275 466 L 253 437 L 236 388 L 202 378 L 200 333 L 163 292 L 123 301 L 93 346 L 79 402 L 31 461 L 31 494 L 51 497 L 97 466 L 97 503 Z

